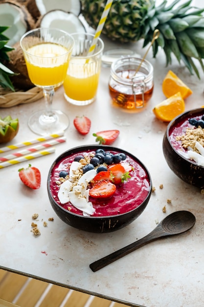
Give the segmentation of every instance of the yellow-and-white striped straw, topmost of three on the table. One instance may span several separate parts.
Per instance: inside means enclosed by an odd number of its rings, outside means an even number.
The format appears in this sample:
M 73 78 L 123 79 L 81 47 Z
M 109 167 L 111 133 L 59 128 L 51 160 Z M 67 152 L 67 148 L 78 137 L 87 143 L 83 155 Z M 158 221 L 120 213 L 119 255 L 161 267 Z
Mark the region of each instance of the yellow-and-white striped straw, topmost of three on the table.
M 52 138 L 60 137 L 62 135 L 64 135 L 64 132 L 59 132 L 57 134 L 48 134 L 48 135 L 44 135 L 44 136 L 38 137 L 38 138 L 33 139 L 33 140 L 25 141 L 25 142 L 18 143 L 18 144 L 8 145 L 8 146 L 0 148 L 0 153 L 5 153 L 5 152 L 8 152 L 10 150 L 18 149 L 18 148 L 21 148 L 21 147 L 24 147 L 24 146 L 30 146 L 32 144 L 45 142 L 46 140 L 50 140 Z

